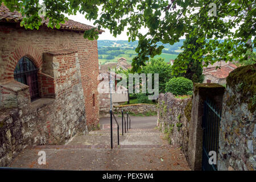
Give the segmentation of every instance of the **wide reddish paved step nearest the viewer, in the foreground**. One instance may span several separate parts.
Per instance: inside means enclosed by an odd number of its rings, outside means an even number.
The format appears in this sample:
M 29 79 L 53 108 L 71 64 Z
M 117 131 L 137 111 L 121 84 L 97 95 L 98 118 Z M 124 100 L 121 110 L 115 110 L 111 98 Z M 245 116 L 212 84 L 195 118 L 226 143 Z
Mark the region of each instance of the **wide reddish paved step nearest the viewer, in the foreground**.
M 38 152 L 46 152 L 46 165 L 38 164 Z M 13 168 L 65 170 L 190 170 L 179 148 L 82 148 L 36 146 L 26 148 L 10 164 Z

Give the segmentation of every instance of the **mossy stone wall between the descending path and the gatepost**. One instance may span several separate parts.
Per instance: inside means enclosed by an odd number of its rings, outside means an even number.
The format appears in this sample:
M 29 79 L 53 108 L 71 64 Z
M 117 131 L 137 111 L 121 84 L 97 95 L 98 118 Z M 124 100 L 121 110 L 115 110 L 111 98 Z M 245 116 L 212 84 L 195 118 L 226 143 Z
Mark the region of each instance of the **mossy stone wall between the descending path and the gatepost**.
M 172 93 L 160 94 L 158 101 L 158 127 L 166 134 L 170 144 L 181 147 L 187 157 L 191 98 L 175 98 Z

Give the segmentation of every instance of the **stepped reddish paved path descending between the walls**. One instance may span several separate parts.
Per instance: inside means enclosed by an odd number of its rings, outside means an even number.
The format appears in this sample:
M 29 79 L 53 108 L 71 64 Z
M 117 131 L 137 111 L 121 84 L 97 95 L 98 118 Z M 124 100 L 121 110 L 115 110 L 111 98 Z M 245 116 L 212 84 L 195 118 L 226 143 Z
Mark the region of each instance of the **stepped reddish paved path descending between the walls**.
M 90 131 L 76 136 L 64 146 L 28 147 L 10 167 L 67 169 L 67 170 L 190 170 L 181 150 L 167 143 L 163 134 L 154 129 L 155 117 L 131 117 L 132 129 L 120 136 L 113 131 L 114 148 L 110 149 L 110 130 Z M 143 123 L 149 128 L 138 129 Z M 101 119 L 101 127 L 108 125 Z M 152 126 L 151 126 L 152 125 Z M 121 131 L 121 130 L 120 130 Z M 120 132 L 121 134 L 121 132 Z M 46 152 L 46 165 L 38 164 L 38 152 Z

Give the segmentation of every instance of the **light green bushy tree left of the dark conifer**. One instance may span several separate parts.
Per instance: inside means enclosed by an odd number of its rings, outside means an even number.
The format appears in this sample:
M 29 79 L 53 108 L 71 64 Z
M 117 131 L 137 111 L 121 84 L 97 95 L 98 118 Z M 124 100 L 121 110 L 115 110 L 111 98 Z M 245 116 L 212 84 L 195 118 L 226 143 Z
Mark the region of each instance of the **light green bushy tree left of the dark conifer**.
M 166 82 L 172 78 L 171 65 L 164 62 L 164 59 L 151 59 L 144 67 L 142 67 L 142 73 L 158 73 L 159 74 L 159 93 L 164 93 L 164 87 Z M 154 80 L 154 75 L 152 75 Z

